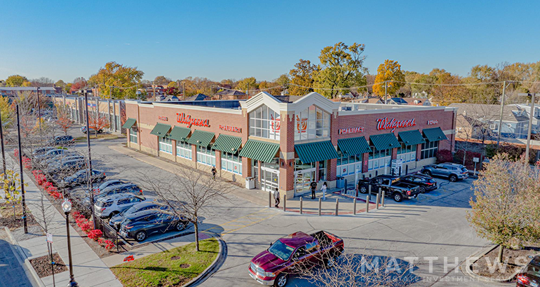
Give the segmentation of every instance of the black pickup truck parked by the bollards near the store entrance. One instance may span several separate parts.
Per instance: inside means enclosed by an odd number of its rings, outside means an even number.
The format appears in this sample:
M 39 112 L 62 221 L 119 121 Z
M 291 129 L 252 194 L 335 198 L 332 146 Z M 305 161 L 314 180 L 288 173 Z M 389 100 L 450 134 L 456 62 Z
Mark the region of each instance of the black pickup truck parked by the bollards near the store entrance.
M 385 197 L 392 197 L 396 202 L 401 202 L 404 198 L 417 197 L 420 193 L 419 186 L 400 181 L 399 176 L 380 175 L 358 181 L 360 193 L 367 193 L 369 186 L 372 186 L 372 193 L 378 193 L 381 188 Z

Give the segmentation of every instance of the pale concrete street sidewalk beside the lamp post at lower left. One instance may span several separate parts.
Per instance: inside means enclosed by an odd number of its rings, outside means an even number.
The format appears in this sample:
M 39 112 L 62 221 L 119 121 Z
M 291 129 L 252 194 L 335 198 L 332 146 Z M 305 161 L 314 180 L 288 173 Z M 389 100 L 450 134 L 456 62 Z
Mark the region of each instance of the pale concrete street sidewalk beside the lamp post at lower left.
M 8 160 L 13 160 L 7 157 Z M 15 165 L 18 166 L 18 165 Z M 25 200 L 27 210 L 34 216 L 41 214 L 41 191 L 36 187 L 33 181 L 30 180 L 27 172 L 24 174 L 25 183 Z M 66 265 L 69 265 L 67 253 L 67 236 L 66 236 L 66 220 L 65 215 L 55 209 L 52 204 L 43 197 L 43 206 L 46 210 L 48 221 L 48 232 L 53 235 L 53 252 L 57 252 Z M 86 244 L 79 234 L 69 226 L 69 235 L 72 244 L 73 258 L 73 273 L 75 281 L 79 286 L 111 286 L 121 287 L 122 284 L 112 274 L 107 265 L 95 254 L 95 252 Z M 35 237 L 33 239 L 18 241 L 23 258 L 36 258 L 47 254 L 46 237 Z M 41 278 L 43 286 L 53 286 L 53 276 Z M 67 286 L 69 282 L 69 271 L 55 274 L 56 286 Z

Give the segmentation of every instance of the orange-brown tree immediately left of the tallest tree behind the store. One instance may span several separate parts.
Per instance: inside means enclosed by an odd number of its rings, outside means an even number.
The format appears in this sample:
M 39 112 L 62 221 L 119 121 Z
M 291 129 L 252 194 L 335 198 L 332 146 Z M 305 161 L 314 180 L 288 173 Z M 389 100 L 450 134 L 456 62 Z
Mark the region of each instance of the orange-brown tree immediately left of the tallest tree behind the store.
M 304 96 L 313 92 L 315 80 L 313 79 L 318 73 L 318 66 L 311 64 L 309 59 L 300 59 L 295 64 L 295 69 L 289 71 L 290 87 L 289 94 L 295 96 Z

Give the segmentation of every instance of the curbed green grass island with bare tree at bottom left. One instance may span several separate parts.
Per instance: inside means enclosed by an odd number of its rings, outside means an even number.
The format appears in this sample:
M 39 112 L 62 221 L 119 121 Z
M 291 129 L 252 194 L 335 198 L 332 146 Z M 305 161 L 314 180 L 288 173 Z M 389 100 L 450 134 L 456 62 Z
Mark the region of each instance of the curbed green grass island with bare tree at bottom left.
M 124 287 L 182 286 L 210 266 L 220 250 L 215 238 L 201 240 L 199 244 L 199 252 L 195 251 L 195 243 L 191 243 L 123 263 L 111 270 Z M 175 256 L 180 259 L 171 259 Z M 182 268 L 182 264 L 189 267 Z

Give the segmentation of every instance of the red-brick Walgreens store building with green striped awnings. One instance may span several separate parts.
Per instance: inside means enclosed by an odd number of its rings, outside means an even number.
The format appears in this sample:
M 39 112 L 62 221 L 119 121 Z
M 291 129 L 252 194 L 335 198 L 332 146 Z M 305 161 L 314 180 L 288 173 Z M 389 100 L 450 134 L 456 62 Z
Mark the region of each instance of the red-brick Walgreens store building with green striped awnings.
M 245 101 L 126 100 L 128 147 L 293 197 L 309 183 L 412 172 L 453 151 L 456 109 L 260 92 Z

